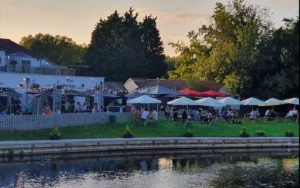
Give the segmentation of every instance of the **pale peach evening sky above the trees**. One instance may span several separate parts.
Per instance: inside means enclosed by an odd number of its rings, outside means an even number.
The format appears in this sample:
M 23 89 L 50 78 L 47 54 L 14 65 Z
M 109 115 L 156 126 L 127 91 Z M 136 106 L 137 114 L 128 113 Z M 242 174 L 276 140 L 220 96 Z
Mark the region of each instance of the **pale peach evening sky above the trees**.
M 157 17 L 157 28 L 165 54 L 176 53 L 170 42 L 188 43 L 189 31 L 209 24 L 216 2 L 228 0 L 0 0 L 0 38 L 19 42 L 23 36 L 37 33 L 63 35 L 78 44 L 89 44 L 100 18 L 130 7 L 139 13 Z M 270 12 L 269 20 L 278 28 L 283 18 L 299 16 L 298 0 L 248 0 Z

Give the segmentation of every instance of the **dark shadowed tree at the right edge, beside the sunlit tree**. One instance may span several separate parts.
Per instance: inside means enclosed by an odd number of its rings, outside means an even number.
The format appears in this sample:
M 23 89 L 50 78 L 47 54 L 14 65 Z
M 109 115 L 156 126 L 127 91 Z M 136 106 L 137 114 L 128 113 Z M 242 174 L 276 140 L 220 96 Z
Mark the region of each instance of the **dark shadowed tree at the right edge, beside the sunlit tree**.
M 299 95 L 299 17 L 284 21 L 285 26 L 260 47 L 258 89 L 265 90 L 262 95 L 266 98 Z

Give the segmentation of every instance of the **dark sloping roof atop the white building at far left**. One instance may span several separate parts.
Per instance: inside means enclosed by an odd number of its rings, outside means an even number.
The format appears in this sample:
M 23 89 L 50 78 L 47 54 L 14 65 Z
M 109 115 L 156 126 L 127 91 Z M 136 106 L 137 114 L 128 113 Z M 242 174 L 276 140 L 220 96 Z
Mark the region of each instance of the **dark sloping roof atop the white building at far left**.
M 24 48 L 23 46 L 15 43 L 9 39 L 3 39 L 3 38 L 0 38 L 0 50 L 5 51 L 5 53 L 7 55 L 23 52 L 24 54 L 32 56 L 32 57 L 38 56 L 33 51 L 28 50 L 28 49 Z

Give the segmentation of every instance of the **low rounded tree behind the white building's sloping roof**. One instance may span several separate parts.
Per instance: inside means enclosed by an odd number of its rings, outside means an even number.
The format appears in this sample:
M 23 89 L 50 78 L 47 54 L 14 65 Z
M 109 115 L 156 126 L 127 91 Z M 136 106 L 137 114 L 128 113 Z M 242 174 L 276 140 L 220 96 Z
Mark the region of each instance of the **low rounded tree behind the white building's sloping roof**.
M 86 47 L 76 44 L 66 36 L 36 34 L 22 37 L 20 45 L 48 58 L 58 65 L 80 65 L 84 63 Z

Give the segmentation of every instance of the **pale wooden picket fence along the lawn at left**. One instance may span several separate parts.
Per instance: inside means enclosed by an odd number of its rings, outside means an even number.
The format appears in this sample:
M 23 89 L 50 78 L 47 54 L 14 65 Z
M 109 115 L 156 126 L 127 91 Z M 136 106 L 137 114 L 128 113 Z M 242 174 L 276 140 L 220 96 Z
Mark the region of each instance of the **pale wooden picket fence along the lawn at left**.
M 44 115 L 0 115 L 0 131 L 36 130 L 53 127 L 72 127 L 108 122 L 125 123 L 131 121 L 130 113 L 66 113 Z

